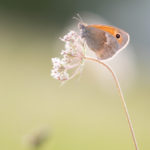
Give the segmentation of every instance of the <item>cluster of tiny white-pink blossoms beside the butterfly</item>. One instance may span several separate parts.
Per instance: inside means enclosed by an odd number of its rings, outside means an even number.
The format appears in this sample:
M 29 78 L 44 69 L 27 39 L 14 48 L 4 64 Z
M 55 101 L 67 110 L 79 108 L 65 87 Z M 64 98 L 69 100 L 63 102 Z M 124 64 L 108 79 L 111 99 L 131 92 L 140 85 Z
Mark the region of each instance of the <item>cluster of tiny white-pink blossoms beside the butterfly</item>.
M 84 58 L 84 41 L 75 31 L 70 31 L 67 35 L 61 38 L 65 42 L 65 50 L 61 51 L 62 58 L 52 58 L 53 69 L 51 76 L 57 80 L 65 81 L 72 76 L 68 70 L 81 66 Z

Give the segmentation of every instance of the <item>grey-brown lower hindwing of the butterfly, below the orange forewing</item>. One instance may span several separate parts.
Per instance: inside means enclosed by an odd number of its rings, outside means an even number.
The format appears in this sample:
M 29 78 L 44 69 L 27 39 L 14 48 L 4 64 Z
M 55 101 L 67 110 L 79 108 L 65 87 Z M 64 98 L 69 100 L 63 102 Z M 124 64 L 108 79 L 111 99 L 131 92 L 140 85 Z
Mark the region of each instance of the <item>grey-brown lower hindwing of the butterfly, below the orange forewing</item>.
M 82 30 L 82 37 L 88 47 L 93 50 L 101 60 L 112 57 L 118 50 L 118 42 L 108 32 L 93 26 L 86 26 Z

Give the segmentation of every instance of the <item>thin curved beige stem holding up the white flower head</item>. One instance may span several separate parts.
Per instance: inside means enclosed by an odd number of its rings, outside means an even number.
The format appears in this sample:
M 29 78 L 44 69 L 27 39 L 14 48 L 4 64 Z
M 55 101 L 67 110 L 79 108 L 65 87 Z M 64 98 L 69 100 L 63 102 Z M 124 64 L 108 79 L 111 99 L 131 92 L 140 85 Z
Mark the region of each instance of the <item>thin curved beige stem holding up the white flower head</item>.
M 131 119 L 130 119 L 130 115 L 129 115 L 129 112 L 128 112 L 128 108 L 127 108 L 127 105 L 126 105 L 126 102 L 125 102 L 125 99 L 124 99 L 124 96 L 123 96 L 123 93 L 122 93 L 122 90 L 121 90 L 121 87 L 120 87 L 120 83 L 118 81 L 117 76 L 115 75 L 115 73 L 113 72 L 111 67 L 109 65 L 105 64 L 104 62 L 102 62 L 102 61 L 100 61 L 100 60 L 98 60 L 96 58 L 91 58 L 91 57 L 84 57 L 84 59 L 90 60 L 90 61 L 94 61 L 94 62 L 97 62 L 97 63 L 103 65 L 112 74 L 112 76 L 113 76 L 113 78 L 115 80 L 116 87 L 118 89 L 119 95 L 121 97 L 121 102 L 122 102 L 123 109 L 125 111 L 125 115 L 126 115 L 126 118 L 127 118 L 128 124 L 129 124 L 129 128 L 130 128 L 132 139 L 133 139 L 133 142 L 134 142 L 134 145 L 135 145 L 135 149 L 139 150 L 138 145 L 137 145 L 137 141 L 136 141 L 136 137 L 135 137 L 135 133 L 134 133 L 134 130 L 133 130 L 132 122 L 131 122 Z

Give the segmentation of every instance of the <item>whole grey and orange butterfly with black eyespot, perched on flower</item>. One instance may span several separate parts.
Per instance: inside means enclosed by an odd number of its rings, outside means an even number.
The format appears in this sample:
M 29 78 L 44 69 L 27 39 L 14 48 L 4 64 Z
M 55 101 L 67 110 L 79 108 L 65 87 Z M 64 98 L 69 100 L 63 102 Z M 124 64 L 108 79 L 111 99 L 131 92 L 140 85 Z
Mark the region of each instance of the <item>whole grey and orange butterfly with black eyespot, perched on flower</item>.
M 79 28 L 87 46 L 101 60 L 111 58 L 129 42 L 128 33 L 113 26 L 80 23 Z

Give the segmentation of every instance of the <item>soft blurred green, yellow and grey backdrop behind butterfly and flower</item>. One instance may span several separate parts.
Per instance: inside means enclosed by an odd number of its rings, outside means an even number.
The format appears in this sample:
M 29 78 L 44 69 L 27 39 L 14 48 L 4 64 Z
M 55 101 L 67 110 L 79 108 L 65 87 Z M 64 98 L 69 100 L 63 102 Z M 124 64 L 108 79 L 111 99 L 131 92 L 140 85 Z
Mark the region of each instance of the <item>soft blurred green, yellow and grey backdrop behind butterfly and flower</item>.
M 149 0 L 0 0 L 0 149 L 133 150 L 109 72 L 87 62 L 60 88 L 50 76 L 72 17 L 115 25 L 130 44 L 108 63 L 118 75 L 140 149 L 150 149 Z

